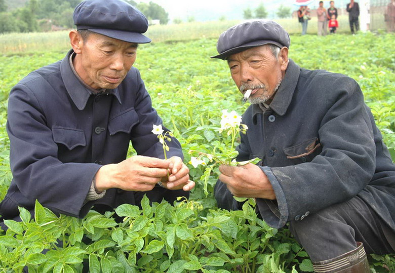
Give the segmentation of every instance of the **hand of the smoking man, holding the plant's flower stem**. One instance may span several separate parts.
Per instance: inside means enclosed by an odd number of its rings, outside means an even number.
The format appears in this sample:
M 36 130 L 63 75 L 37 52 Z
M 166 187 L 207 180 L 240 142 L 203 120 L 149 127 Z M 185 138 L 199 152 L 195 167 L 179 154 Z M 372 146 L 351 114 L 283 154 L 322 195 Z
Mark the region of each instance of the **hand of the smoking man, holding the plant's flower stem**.
M 219 180 L 235 197 L 275 199 L 269 179 L 258 166 L 251 163 L 235 167 L 221 165 L 219 171 Z

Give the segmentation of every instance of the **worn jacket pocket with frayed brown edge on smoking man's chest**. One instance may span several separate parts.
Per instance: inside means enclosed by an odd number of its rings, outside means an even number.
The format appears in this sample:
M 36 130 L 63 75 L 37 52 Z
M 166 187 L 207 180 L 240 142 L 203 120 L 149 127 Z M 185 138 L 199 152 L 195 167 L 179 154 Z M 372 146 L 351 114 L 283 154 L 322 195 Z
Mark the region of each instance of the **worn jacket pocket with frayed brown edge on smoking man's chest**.
M 318 137 L 284 149 L 287 159 L 299 160 L 301 163 L 310 162 L 321 151 L 322 147 Z

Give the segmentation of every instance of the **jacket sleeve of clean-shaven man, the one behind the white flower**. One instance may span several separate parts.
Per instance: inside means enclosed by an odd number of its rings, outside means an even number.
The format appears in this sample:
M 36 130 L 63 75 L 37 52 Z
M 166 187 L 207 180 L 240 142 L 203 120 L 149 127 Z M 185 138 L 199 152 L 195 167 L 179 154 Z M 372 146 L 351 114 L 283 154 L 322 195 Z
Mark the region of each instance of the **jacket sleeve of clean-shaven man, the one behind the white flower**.
M 135 110 L 139 116 L 139 123 L 133 128 L 131 134 L 132 145 L 138 154 L 164 159 L 163 146 L 157 135 L 152 133 L 153 125 L 162 125 L 163 122 L 156 110 L 152 108 L 151 98 L 140 78 L 139 71 L 137 69 L 135 71 L 138 83 Z M 163 134 L 169 131 L 166 127 L 163 127 L 163 130 Z M 169 146 L 169 151 L 166 152 L 167 158 L 177 156 L 183 159 L 181 145 L 175 137 L 172 137 L 171 141 L 166 141 L 166 143 Z

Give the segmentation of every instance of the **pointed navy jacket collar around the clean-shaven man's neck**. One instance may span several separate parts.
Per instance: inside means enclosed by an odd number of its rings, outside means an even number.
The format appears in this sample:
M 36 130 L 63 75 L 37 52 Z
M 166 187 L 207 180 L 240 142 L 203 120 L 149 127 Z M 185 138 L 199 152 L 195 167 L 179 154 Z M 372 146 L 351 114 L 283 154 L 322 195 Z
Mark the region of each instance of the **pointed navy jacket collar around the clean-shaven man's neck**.
M 71 100 L 74 102 L 78 110 L 83 110 L 87 105 L 92 92 L 84 86 L 71 69 L 69 58 L 73 52 L 73 50 L 70 50 L 66 57 L 61 61 L 60 74 Z M 108 90 L 108 93 L 114 95 L 120 104 L 122 103 L 118 88 Z

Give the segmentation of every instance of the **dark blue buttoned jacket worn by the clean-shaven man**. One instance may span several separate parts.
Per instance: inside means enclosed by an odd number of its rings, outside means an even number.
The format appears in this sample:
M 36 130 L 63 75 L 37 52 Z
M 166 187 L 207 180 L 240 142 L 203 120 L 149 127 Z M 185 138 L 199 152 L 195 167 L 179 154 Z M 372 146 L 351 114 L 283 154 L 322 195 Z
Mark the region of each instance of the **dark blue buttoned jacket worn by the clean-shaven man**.
M 134 204 L 133 192 L 120 189 L 84 201 L 99 168 L 125 160 L 130 141 L 138 154 L 164 158 L 151 132 L 162 120 L 139 71 L 132 67 L 119 87 L 94 95 L 72 72 L 71 53 L 31 72 L 11 90 L 7 130 L 13 180 L 0 203 L 3 218 L 19 215 L 18 206 L 31 210 L 36 199 L 55 213 L 75 217 L 85 216 L 94 204 Z M 176 139 L 169 146 L 168 157 L 183 157 Z

